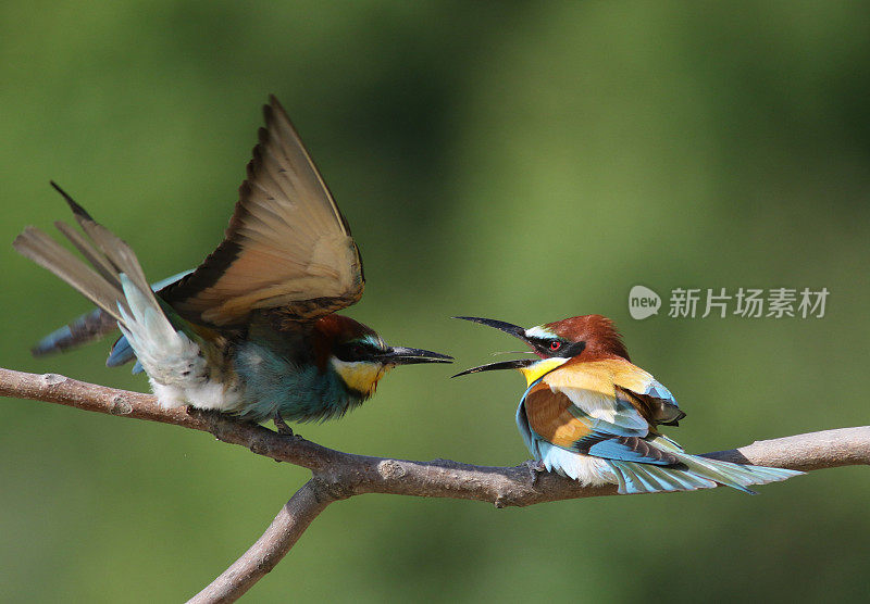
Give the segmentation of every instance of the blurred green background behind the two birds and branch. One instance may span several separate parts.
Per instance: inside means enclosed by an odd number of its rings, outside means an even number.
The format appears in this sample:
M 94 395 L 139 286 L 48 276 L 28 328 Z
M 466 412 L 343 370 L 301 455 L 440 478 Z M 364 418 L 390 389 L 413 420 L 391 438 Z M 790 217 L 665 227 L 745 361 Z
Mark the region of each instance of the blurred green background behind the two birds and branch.
M 448 317 L 602 313 L 713 451 L 868 423 L 870 20 L 865 3 L 4 2 L 0 365 L 120 388 L 107 343 L 27 348 L 88 303 L 9 246 L 65 217 L 57 179 L 154 279 L 220 241 L 269 92 L 352 225 L 349 314 L 456 367 L 395 372 L 346 451 L 512 465 L 514 350 Z M 822 319 L 629 317 L 675 287 L 826 287 Z M 667 304 L 667 300 L 666 300 Z M 667 307 L 666 307 L 667 310 Z M 178 428 L 3 400 L 0 600 L 196 593 L 302 469 Z M 495 509 L 366 495 L 331 506 L 252 601 L 833 601 L 867 594 L 863 468 L 762 494 Z

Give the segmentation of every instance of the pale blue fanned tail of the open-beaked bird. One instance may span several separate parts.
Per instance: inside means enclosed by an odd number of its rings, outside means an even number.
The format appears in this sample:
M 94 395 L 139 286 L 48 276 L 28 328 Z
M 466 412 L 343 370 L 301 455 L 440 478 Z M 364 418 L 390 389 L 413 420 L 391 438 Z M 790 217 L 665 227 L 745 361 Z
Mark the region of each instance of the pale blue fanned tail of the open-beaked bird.
M 655 493 L 660 491 L 694 491 L 719 485 L 755 494 L 750 485 L 767 485 L 804 474 L 793 469 L 749 466 L 689 455 L 663 436 L 649 439 L 658 449 L 668 451 L 681 466 L 657 466 L 636 462 L 610 461 L 619 481 L 620 493 Z

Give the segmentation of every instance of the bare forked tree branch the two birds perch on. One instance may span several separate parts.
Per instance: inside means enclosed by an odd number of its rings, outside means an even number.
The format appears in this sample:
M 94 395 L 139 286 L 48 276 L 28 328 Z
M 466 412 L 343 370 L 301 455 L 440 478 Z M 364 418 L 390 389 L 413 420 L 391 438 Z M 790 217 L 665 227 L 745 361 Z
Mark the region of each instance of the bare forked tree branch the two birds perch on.
M 467 499 L 505 507 L 617 492 L 616 486 L 583 487 L 556 474 L 538 474 L 527 464 L 487 467 L 448 460 L 413 462 L 344 453 L 224 414 L 192 408 L 166 410 L 150 394 L 85 383 L 55 374 L 40 376 L 0 368 L 0 395 L 210 432 L 224 442 L 246 446 L 258 455 L 302 466 L 313 473 L 313 478 L 287 502 L 257 543 L 191 602 L 236 600 L 274 568 L 330 503 L 352 495 L 391 493 Z M 870 426 L 758 441 L 706 455 L 729 462 L 800 470 L 870 465 Z

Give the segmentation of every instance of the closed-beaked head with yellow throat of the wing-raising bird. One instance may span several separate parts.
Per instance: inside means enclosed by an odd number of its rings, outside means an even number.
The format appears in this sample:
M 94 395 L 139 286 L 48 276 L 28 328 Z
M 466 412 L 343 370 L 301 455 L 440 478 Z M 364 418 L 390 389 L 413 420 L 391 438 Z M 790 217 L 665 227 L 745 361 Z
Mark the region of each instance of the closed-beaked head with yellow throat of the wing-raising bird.
M 390 347 L 374 329 L 343 315 L 314 324 L 314 355 L 321 370 L 332 368 L 348 390 L 371 397 L 377 381 L 396 365 L 451 363 L 453 357 L 415 348 Z

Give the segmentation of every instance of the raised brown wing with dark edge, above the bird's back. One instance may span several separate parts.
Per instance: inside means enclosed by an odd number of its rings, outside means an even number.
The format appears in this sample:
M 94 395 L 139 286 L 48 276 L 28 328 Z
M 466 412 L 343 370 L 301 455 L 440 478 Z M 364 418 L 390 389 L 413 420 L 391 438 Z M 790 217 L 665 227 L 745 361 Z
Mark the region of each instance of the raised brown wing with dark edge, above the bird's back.
M 362 261 L 332 193 L 277 99 L 263 113 L 224 241 L 160 292 L 191 320 L 234 325 L 275 307 L 308 320 L 362 295 Z

